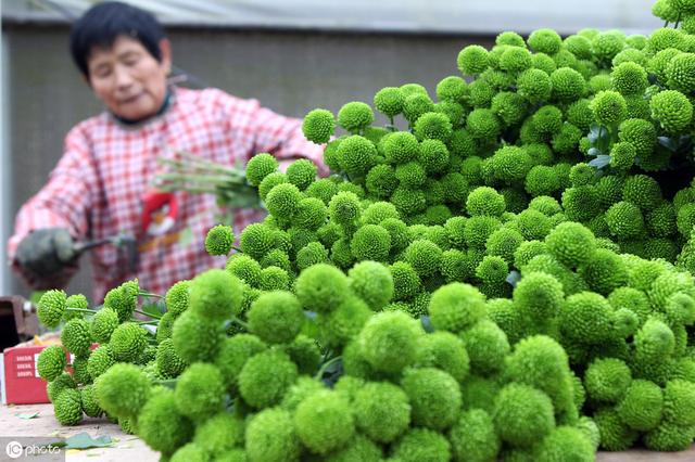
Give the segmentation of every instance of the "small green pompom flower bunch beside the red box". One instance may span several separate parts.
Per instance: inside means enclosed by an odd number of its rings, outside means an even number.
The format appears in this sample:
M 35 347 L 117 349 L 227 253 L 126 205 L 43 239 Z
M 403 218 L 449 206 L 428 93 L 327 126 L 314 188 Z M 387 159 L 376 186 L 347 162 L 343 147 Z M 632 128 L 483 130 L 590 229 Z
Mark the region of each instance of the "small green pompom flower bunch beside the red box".
M 169 293 L 176 292 L 180 284 L 177 283 Z M 181 294 L 187 296 L 186 291 Z M 103 415 L 97 401 L 94 381 L 113 364 L 147 364 L 148 373 L 154 376 L 155 363 L 152 361 L 157 355 L 156 341 L 144 326 L 159 324 L 157 335 L 163 335 L 166 321 L 160 323 L 156 313 L 144 313 L 138 309 L 139 296 L 153 295 L 141 291 L 138 281 L 134 280 L 110 291 L 98 310 L 89 309 L 84 295 L 66 296 L 63 291 L 54 290 L 41 296 L 38 301 L 39 321 L 48 328 L 63 323 L 62 346 L 43 349 L 37 360 L 38 373 L 48 382 L 48 396 L 61 424 L 76 425 L 81 422 L 83 414 L 92 418 Z M 175 316 L 176 304 L 167 306 L 168 311 L 163 318 Z M 135 318 L 135 312 L 155 319 L 143 321 Z M 119 423 L 124 429 L 131 429 L 129 420 L 119 420 Z

